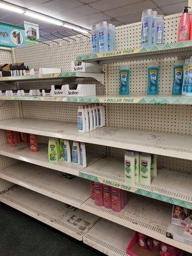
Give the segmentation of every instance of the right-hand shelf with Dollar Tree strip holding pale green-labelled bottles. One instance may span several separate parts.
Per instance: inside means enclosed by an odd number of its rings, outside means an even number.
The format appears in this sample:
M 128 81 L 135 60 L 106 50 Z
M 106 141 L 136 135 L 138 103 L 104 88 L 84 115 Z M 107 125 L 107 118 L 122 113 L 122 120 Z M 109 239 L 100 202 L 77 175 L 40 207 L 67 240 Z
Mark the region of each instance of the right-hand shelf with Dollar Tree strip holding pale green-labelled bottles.
M 192 173 L 189 172 L 162 169 L 158 170 L 150 186 L 128 186 L 124 178 L 124 161 L 106 157 L 81 170 L 79 177 L 192 209 Z

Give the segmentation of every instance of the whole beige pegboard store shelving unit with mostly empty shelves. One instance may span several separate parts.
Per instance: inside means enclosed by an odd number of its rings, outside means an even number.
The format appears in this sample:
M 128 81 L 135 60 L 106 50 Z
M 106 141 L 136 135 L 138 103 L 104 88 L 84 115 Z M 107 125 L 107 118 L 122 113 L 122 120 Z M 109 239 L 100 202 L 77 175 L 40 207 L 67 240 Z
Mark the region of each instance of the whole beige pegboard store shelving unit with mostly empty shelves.
M 4 131 L 0 130 L 0 202 L 83 240 L 109 256 L 127 255 L 125 249 L 134 230 L 192 253 L 192 246 L 165 236 L 172 204 L 192 209 L 192 98 L 170 96 L 176 56 L 186 57 L 192 51 L 192 42 L 172 43 L 176 40 L 178 19 L 179 15 L 165 19 L 165 44 L 157 47 L 139 47 L 138 23 L 116 29 L 115 52 L 88 54 L 89 40 L 81 46 L 73 45 L 73 51 L 67 44 L 49 51 L 54 67 L 70 70 L 70 63 L 75 58 L 86 62 L 110 63 L 105 66 L 105 74 L 62 72 L 0 78 L 3 88 L 8 84 L 13 88 L 26 86 L 29 89 L 34 81 L 36 87 L 39 81 L 46 87 L 50 86 L 52 79 L 68 78 L 74 81 L 74 78 L 83 77 L 104 84 L 104 90 L 97 88 L 100 95 L 96 97 L 0 97 L 1 130 L 37 134 L 40 141 L 46 140 L 45 136 L 51 136 L 85 142 L 88 152 L 86 168 L 62 161 L 49 163 L 47 147 L 40 145 L 39 152 L 35 153 L 22 144 L 9 147 L 5 145 Z M 126 49 L 127 42 L 130 49 Z M 55 51 L 58 51 L 57 54 Z M 29 63 L 31 67 L 49 67 L 50 62 L 45 60 L 44 52 L 39 45 L 19 48 L 15 49 L 14 58 Z M 67 57 L 63 52 L 67 52 Z M 11 52 L 5 54 L 3 51 L 2 54 L 8 63 L 12 61 Z M 154 58 L 159 60 L 161 68 L 160 92 L 157 96 L 149 96 L 144 88 L 147 82 L 146 67 L 147 61 Z M 129 96 L 118 95 L 118 70 L 122 65 L 118 63 L 122 61 L 129 61 L 132 70 Z M 12 81 L 18 82 L 17 87 L 15 83 L 10 83 Z M 21 81 L 22 85 L 19 86 Z M 24 81 L 27 83 L 24 84 Z M 106 127 L 84 134 L 77 132 L 78 102 L 104 103 Z M 120 160 L 124 157 L 122 149 L 158 155 L 158 175 L 150 186 L 125 184 L 124 161 Z M 67 179 L 65 173 L 76 177 Z M 89 196 L 88 180 L 131 192 L 125 209 L 114 212 L 95 205 Z M 70 211 L 67 204 L 78 209 Z M 81 221 L 77 223 L 79 219 Z

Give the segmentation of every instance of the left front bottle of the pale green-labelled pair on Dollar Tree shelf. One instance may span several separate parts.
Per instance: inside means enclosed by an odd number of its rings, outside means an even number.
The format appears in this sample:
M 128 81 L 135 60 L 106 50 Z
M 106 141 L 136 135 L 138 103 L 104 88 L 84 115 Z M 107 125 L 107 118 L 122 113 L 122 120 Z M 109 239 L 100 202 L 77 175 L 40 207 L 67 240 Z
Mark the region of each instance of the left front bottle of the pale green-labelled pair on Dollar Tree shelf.
M 135 184 L 134 163 L 134 152 L 125 151 L 125 184 L 127 185 Z

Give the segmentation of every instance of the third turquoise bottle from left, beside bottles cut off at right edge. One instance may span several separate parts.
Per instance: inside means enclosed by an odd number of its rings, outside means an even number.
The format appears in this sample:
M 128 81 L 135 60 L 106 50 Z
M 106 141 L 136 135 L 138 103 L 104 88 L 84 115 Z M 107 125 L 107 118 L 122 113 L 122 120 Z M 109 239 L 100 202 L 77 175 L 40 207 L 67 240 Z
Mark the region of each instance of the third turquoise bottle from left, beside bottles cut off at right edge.
M 177 60 L 177 64 L 173 68 L 173 95 L 180 95 L 182 93 L 182 79 L 183 79 L 183 61 Z

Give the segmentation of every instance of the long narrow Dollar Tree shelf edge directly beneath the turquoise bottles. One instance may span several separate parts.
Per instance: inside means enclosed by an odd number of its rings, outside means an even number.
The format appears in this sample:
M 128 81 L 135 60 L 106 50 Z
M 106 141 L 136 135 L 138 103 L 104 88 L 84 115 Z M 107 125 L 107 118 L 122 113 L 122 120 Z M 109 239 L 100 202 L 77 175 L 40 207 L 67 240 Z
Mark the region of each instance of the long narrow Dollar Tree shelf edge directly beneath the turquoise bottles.
M 87 97 L 62 97 L 62 96 L 0 96 L 0 100 L 30 100 L 30 101 L 51 101 L 51 102 L 73 102 L 73 103 L 113 103 L 113 104 L 173 104 L 191 105 L 192 97 L 184 95 L 97 95 Z

